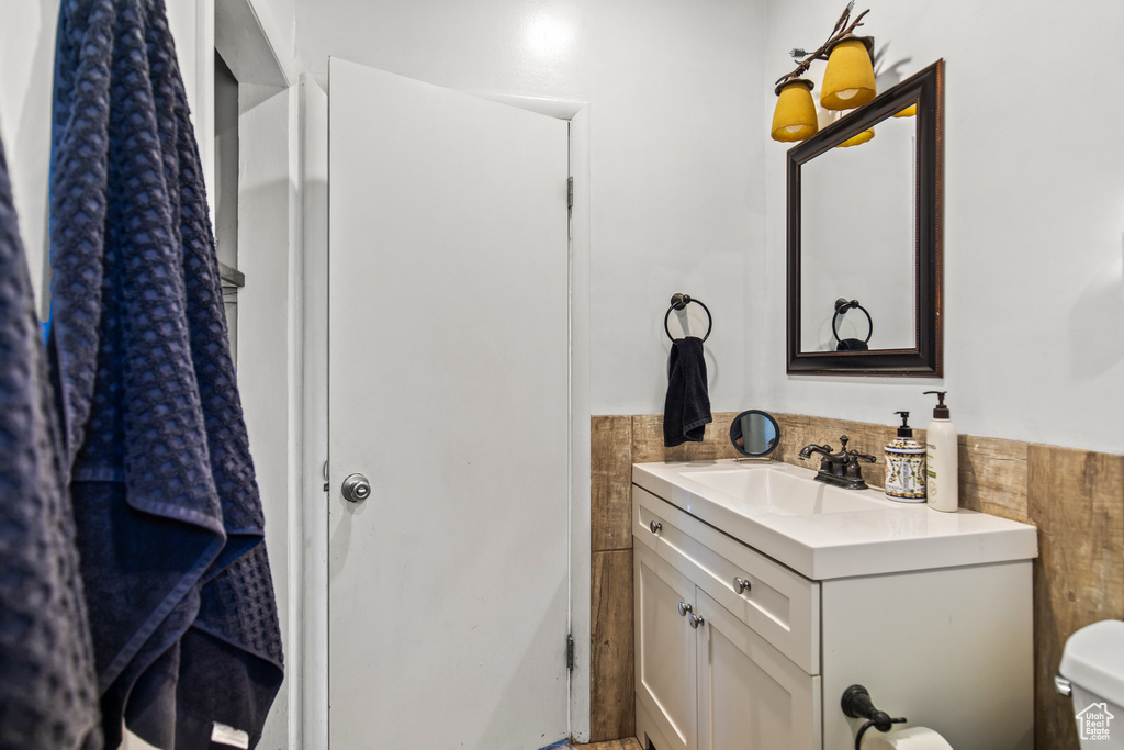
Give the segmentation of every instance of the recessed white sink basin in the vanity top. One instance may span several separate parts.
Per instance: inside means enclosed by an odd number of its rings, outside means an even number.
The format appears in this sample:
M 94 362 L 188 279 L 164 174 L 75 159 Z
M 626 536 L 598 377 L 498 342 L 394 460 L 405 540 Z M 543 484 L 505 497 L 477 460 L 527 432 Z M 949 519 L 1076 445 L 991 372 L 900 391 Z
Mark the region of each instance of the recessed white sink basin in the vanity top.
M 680 476 L 725 493 L 754 510 L 779 516 L 886 509 L 889 500 L 868 493 L 825 485 L 770 467 L 738 467 L 719 471 L 681 471 Z

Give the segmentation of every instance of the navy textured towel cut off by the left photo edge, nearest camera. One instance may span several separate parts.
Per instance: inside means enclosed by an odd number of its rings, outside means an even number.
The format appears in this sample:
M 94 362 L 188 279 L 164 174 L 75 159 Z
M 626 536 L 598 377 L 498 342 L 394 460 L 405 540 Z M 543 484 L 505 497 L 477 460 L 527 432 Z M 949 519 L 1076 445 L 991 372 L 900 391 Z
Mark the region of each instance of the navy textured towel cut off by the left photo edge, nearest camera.
M 0 144 L 0 750 L 101 747 L 74 517 Z

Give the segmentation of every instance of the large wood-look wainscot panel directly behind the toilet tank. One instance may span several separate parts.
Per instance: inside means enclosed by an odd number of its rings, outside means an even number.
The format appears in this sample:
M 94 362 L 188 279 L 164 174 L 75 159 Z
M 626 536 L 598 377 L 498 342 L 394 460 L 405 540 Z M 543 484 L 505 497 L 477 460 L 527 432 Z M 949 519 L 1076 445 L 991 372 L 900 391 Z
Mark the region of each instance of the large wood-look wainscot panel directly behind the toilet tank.
M 1073 705 L 1054 693 L 1067 639 L 1124 618 L 1124 457 L 1027 446 L 1034 562 L 1035 746 L 1077 749 Z

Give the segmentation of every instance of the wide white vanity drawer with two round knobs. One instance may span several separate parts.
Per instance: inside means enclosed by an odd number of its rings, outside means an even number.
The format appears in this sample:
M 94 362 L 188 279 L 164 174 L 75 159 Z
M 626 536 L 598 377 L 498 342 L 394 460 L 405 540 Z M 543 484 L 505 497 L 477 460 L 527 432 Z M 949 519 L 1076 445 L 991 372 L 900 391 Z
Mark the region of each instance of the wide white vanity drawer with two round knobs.
M 674 566 L 808 675 L 819 674 L 819 584 L 636 485 L 633 519 L 638 544 Z M 740 591 L 737 578 L 749 588 Z

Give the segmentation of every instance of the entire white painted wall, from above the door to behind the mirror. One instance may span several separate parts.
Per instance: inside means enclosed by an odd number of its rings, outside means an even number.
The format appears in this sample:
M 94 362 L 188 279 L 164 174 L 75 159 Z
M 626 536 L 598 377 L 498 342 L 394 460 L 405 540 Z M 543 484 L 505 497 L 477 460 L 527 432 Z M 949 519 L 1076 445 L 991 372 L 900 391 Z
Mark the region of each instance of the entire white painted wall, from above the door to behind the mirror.
M 715 409 L 887 423 L 910 409 L 924 424 L 921 392 L 936 387 L 962 432 L 1124 451 L 1106 416 L 1124 413 L 1124 336 L 1113 333 L 1124 152 L 1091 125 L 1111 127 L 1124 102 L 1087 72 L 1088 51 L 1115 49 L 1124 30 L 1109 0 L 1061 15 L 1010 1 L 871 6 L 862 30 L 885 52 L 883 80 L 946 60 L 945 378 L 785 374 L 785 147 L 768 138 L 771 82 L 840 10 L 297 0 L 297 66 L 323 73 L 334 54 L 454 89 L 592 102 L 593 413 L 662 409 L 662 316 L 686 291 L 715 314 Z M 1024 52 L 1036 42 L 1043 54 Z M 1016 49 L 1017 66 L 997 66 Z M 1044 90 L 1058 93 L 1014 103 Z

